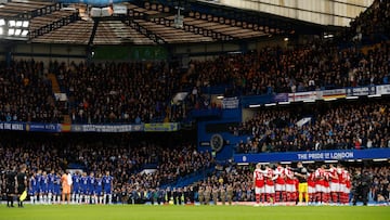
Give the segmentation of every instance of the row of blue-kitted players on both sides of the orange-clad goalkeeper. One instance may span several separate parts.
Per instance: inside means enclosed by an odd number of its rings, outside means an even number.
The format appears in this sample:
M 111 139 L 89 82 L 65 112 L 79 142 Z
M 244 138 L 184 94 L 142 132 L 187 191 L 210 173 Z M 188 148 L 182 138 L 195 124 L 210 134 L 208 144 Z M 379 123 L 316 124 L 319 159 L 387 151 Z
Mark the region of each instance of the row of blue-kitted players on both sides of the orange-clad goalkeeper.
M 96 177 L 94 172 L 90 172 L 89 176 L 87 172 L 79 171 L 68 174 L 72 177 L 68 181 L 72 185 L 68 202 L 72 204 L 112 204 L 114 178 L 109 176 L 109 171 L 106 171 L 104 176 L 98 173 Z M 62 187 L 62 177 L 54 170 L 50 173 L 41 170 L 32 172 L 28 187 L 30 203 L 32 205 L 60 204 Z

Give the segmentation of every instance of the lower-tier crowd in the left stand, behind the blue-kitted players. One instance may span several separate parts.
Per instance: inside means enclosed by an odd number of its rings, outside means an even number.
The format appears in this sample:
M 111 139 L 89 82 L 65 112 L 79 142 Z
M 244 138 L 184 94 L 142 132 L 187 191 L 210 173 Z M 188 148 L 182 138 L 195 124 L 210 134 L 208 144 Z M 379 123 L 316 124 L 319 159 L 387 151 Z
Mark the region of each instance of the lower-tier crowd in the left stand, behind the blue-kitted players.
M 213 165 L 209 153 L 199 153 L 196 146 L 186 142 L 168 145 L 125 134 L 115 139 L 95 135 L 93 140 L 86 137 L 72 140 L 69 137 L 47 137 L 46 141 L 14 138 L 1 137 L 1 171 L 22 164 L 27 165 L 28 172 L 39 169 L 60 172 L 68 168 L 95 173 L 108 170 L 114 177 L 115 189 L 119 191 L 121 187 L 156 189 Z M 144 169 L 155 171 L 146 172 Z

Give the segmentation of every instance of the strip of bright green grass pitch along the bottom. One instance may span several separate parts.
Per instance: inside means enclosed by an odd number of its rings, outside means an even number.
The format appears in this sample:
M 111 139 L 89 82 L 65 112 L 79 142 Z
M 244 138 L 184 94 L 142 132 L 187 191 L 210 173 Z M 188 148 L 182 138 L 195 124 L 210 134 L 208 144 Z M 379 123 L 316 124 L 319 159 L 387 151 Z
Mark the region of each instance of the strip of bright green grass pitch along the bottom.
M 0 220 L 381 220 L 390 207 L 252 207 L 252 206 L 30 206 L 0 207 Z

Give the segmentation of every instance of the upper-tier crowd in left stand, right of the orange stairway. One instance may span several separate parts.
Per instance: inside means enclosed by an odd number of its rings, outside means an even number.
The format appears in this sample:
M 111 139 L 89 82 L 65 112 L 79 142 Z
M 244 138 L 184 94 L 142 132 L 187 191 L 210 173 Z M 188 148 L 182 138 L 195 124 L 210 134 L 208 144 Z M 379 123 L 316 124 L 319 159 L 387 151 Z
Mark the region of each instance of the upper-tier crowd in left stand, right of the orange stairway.
M 179 74 L 167 63 L 52 62 L 49 66 L 69 95 L 74 122 L 141 124 L 177 117 L 167 105 L 179 87 Z

